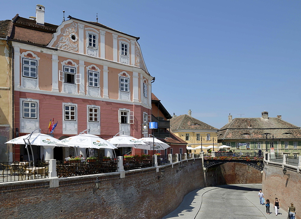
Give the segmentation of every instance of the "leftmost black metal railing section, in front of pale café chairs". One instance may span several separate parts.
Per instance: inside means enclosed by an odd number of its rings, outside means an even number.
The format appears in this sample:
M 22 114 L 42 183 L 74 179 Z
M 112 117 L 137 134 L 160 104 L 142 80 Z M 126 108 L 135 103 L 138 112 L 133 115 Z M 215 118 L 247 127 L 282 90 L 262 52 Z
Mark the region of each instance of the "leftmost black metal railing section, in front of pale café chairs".
M 0 182 L 14 182 L 49 177 L 49 161 L 2 162 Z

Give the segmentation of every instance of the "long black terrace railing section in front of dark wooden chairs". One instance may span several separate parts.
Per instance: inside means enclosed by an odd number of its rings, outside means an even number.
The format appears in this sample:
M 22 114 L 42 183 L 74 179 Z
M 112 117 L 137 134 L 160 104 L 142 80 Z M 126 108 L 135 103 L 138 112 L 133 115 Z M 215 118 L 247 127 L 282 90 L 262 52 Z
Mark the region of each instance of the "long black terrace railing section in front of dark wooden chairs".
M 57 177 L 84 176 L 117 171 L 117 158 L 57 161 Z

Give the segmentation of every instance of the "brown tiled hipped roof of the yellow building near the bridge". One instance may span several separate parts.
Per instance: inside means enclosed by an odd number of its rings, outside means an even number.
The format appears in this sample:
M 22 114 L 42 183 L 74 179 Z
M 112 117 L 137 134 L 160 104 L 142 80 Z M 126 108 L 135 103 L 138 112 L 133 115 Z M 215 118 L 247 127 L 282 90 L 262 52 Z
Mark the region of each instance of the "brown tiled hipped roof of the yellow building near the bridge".
M 169 121 L 170 121 L 171 130 L 177 130 L 177 129 L 218 130 L 218 128 L 214 128 L 213 126 L 208 125 L 205 122 L 202 122 L 186 114 L 173 117 Z

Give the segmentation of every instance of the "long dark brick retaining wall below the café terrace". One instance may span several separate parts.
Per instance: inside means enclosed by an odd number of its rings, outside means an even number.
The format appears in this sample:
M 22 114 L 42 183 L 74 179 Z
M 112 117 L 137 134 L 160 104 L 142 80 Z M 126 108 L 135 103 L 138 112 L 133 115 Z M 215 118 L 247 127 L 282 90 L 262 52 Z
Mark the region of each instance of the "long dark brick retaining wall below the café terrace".
M 205 185 L 201 159 L 177 169 L 165 165 L 159 180 L 153 167 L 126 171 L 121 179 L 119 173 L 100 174 L 99 189 L 96 175 L 60 179 L 54 188 L 49 179 L 0 184 L 1 218 L 162 218 Z

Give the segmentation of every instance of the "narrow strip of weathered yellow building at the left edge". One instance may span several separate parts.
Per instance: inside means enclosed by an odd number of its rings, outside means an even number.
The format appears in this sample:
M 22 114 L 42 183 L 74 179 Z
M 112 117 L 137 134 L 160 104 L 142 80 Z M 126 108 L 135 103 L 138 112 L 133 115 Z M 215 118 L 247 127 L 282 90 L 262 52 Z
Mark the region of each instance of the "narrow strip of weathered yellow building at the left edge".
M 11 20 L 0 21 L 0 26 Z M 9 27 L 9 25 L 8 25 Z M 0 29 L 0 162 L 13 161 L 13 148 L 5 142 L 13 136 L 12 46 L 4 38 L 9 29 Z

